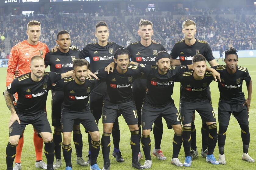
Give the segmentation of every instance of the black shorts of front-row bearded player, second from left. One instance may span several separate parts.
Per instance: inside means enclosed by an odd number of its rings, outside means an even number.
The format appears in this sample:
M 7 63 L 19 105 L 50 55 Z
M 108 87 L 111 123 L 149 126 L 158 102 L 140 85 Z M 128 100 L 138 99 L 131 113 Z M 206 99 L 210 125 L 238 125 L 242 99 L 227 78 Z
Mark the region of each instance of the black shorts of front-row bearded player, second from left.
M 63 112 L 61 113 L 61 130 L 62 132 L 72 132 L 73 125 L 82 124 L 86 131 L 99 131 L 98 124 L 91 113 L 90 108 L 82 112 Z

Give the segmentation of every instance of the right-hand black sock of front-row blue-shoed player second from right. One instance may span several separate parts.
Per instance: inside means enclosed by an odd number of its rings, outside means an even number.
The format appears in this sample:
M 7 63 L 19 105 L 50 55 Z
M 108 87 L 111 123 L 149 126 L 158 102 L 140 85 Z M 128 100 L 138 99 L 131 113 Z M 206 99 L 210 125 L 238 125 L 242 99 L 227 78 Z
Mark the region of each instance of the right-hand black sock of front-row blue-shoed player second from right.
M 212 155 L 218 139 L 217 124 L 216 123 L 210 124 L 208 125 L 208 128 L 209 128 L 209 134 L 208 134 L 207 155 Z

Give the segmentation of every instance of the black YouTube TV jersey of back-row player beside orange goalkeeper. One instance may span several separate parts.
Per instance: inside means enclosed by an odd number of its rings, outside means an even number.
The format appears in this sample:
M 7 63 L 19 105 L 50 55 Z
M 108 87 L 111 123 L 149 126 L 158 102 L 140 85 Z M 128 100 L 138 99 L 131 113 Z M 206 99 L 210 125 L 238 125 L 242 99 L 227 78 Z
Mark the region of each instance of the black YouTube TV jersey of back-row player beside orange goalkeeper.
M 69 49 L 69 52 L 62 53 L 59 49 L 57 52 L 49 52 L 45 55 L 44 63 L 46 66 L 50 65 L 50 70 L 55 73 L 66 73 L 73 70 L 73 61 L 76 59 L 83 59 L 83 55 L 77 51 Z M 60 81 L 63 82 L 63 81 Z M 54 83 L 54 91 L 61 90 L 59 87 L 62 86 L 59 83 Z

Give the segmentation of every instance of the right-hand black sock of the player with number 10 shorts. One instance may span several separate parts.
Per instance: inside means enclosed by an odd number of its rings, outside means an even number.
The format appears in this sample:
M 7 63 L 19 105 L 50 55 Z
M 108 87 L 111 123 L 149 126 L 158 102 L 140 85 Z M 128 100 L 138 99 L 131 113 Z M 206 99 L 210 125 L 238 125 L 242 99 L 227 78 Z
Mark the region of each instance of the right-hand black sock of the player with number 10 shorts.
M 133 160 L 138 159 L 139 149 L 140 149 L 140 135 L 139 130 L 130 131 L 131 132 L 131 148 L 132 148 L 132 158 Z

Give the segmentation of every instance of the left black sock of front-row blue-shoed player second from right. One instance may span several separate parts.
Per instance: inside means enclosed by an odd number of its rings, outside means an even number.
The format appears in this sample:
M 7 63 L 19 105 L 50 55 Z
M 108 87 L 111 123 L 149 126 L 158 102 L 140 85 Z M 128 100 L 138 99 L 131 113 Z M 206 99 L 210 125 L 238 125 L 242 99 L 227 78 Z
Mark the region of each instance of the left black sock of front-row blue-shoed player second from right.
M 183 141 L 185 156 L 191 156 L 190 154 L 191 135 L 190 134 L 191 134 L 191 126 L 183 126 L 182 141 Z

